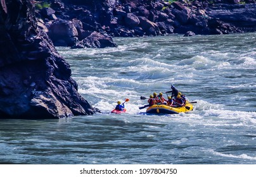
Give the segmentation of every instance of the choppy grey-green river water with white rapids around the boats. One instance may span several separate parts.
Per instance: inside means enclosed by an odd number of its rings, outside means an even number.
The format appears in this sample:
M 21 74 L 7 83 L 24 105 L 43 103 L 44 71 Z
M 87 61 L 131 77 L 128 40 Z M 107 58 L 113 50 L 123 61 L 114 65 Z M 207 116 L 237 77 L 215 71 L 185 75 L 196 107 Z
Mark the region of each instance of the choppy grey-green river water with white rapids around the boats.
M 4 164 L 256 164 L 256 34 L 115 38 L 58 47 L 101 114 L 3 120 Z M 140 96 L 173 84 L 194 111 L 149 115 Z M 164 94 L 165 97 L 167 95 Z M 110 114 L 117 101 L 127 113 Z

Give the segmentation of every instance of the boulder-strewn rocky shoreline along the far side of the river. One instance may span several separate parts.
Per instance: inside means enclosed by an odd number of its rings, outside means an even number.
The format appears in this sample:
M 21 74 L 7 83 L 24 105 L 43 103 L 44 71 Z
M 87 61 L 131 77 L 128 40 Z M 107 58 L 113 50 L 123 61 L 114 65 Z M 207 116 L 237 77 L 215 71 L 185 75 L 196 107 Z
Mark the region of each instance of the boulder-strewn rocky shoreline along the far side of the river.
M 45 1 L 44 1 L 45 2 Z M 254 0 L 49 0 L 37 18 L 54 46 L 116 47 L 112 37 L 256 31 Z

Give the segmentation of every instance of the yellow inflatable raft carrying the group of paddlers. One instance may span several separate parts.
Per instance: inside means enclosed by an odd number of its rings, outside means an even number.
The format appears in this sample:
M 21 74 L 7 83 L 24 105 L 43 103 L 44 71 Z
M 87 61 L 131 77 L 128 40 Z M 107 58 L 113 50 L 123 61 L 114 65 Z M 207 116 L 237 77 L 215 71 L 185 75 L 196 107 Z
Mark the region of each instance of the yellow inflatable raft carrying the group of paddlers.
M 193 106 L 188 101 L 186 101 L 186 106 L 182 107 L 172 107 L 166 104 L 153 104 L 152 106 L 148 107 L 148 109 L 146 109 L 146 113 L 150 114 L 179 114 L 189 111 L 193 111 Z

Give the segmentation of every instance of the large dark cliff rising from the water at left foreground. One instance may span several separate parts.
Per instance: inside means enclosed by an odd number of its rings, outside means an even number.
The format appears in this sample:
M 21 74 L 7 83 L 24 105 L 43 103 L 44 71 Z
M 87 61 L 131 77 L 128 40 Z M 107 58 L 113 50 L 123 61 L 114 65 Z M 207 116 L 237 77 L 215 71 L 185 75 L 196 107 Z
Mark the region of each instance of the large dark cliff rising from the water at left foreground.
M 65 118 L 93 114 L 70 65 L 37 26 L 30 0 L 1 0 L 0 118 Z

